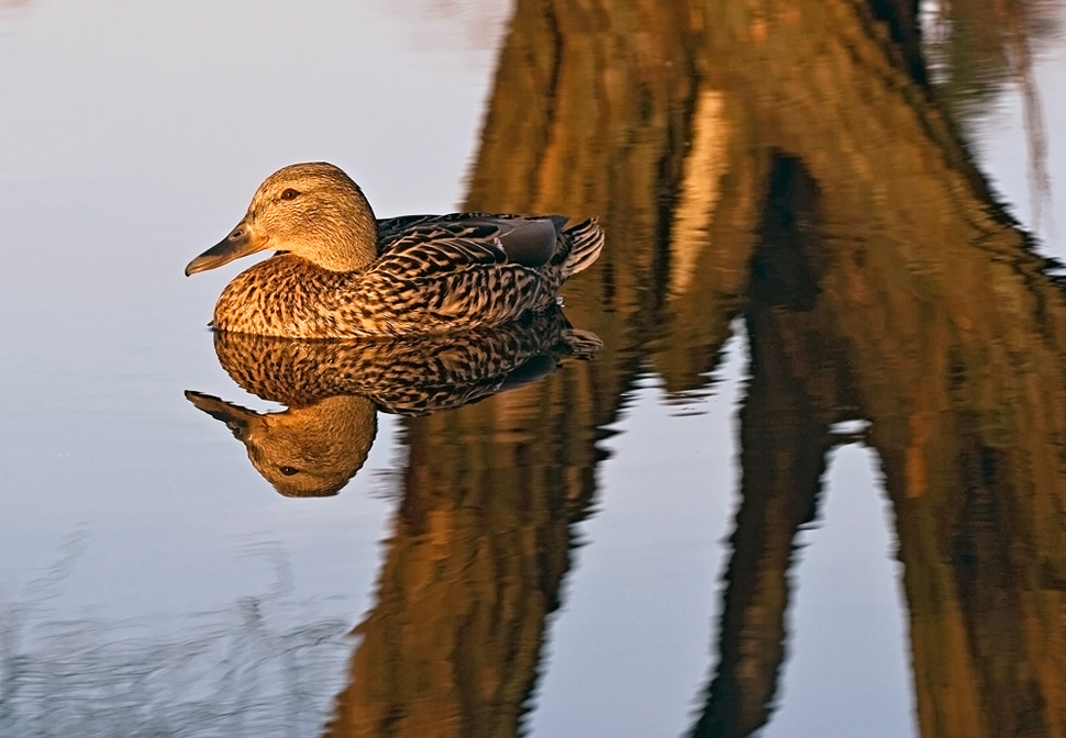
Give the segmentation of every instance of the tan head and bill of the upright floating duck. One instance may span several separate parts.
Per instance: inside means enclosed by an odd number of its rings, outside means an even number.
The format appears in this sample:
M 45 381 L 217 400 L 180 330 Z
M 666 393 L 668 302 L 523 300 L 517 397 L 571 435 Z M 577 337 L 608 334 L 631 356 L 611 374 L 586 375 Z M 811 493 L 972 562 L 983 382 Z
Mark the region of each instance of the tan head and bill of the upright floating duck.
M 363 190 L 332 164 L 293 164 L 266 178 L 225 238 L 192 259 L 186 276 L 270 249 L 331 271 L 365 269 L 377 258 L 377 223 Z

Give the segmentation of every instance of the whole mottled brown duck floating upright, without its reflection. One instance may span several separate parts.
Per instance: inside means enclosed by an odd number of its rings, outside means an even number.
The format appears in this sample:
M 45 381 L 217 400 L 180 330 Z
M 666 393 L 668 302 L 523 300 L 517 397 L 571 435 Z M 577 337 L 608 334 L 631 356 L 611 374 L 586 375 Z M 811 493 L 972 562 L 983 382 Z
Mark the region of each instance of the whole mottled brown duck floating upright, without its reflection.
M 596 219 L 489 213 L 377 219 L 363 190 L 324 161 L 264 180 L 230 234 L 190 276 L 262 250 L 274 256 L 222 291 L 216 331 L 287 338 L 449 334 L 556 304 L 600 256 Z

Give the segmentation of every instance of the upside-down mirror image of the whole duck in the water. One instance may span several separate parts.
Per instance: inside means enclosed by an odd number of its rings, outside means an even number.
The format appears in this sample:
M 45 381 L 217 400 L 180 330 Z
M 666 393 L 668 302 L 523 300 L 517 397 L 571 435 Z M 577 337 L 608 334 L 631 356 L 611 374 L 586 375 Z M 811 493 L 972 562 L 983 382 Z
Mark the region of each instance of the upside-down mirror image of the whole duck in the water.
M 216 332 L 230 377 L 287 410 L 257 412 L 195 391 L 186 398 L 225 423 L 280 494 L 329 496 L 366 462 L 378 411 L 424 415 L 467 405 L 546 377 L 564 358 L 591 358 L 600 345 L 558 309 L 490 329 L 390 342 Z

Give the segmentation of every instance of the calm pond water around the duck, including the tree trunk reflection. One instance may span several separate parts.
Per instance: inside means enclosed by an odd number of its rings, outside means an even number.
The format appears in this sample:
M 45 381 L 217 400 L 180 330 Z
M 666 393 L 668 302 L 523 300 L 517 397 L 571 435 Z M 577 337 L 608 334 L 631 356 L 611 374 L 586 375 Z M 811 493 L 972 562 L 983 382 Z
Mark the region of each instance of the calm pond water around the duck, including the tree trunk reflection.
M 992 53 L 959 142 L 848 3 L 640 8 L 0 4 L 0 735 L 1063 733 L 1061 295 L 966 157 L 1066 256 L 1061 10 L 1042 194 Z M 181 270 L 318 159 L 601 216 L 602 347 L 415 416 L 242 381 Z M 187 391 L 362 467 L 278 494 Z

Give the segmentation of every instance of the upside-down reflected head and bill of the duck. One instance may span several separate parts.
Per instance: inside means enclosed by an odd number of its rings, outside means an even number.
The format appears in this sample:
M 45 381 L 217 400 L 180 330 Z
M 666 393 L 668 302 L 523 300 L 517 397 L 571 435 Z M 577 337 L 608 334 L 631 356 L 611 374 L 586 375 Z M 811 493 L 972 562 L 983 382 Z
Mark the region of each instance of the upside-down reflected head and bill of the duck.
M 287 497 L 335 495 L 366 462 L 377 414 L 365 398 L 338 395 L 306 407 L 257 413 L 202 392 L 185 396 L 222 421 L 264 479 Z

